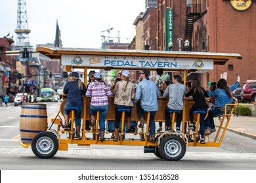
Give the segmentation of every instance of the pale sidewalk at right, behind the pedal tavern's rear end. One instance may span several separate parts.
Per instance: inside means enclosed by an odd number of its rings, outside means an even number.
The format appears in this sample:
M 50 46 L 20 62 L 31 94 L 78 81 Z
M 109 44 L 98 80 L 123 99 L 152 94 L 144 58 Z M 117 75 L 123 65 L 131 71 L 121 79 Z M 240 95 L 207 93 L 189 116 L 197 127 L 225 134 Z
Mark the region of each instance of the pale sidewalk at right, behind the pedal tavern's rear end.
M 219 127 L 218 118 L 215 118 L 215 125 Z M 228 130 L 256 139 L 256 116 L 232 116 Z

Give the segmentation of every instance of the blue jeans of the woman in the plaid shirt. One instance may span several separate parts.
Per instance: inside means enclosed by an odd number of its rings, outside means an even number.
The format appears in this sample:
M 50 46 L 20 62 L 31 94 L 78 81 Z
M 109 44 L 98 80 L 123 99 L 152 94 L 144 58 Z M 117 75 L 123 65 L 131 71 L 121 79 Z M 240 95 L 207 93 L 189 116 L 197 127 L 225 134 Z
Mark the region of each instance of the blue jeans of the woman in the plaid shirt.
M 106 114 L 108 112 L 108 105 L 95 106 L 90 105 L 90 114 L 96 116 L 96 111 L 100 111 L 100 131 L 105 129 Z

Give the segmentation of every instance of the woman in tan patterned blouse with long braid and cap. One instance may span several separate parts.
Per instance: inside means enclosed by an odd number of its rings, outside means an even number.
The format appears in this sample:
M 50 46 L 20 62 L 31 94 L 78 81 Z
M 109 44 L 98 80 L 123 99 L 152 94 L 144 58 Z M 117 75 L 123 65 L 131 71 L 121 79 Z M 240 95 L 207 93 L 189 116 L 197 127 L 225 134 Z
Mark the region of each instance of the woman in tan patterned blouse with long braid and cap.
M 133 107 L 133 99 L 135 98 L 135 84 L 129 81 L 130 72 L 122 71 L 121 81 L 116 83 L 113 91 L 115 95 L 114 104 L 116 104 L 116 121 L 114 127 L 114 141 L 118 141 L 119 123 L 121 120 L 121 113 L 119 108 L 127 108 L 129 112 L 125 112 L 127 116 L 127 129 L 131 128 L 131 108 Z

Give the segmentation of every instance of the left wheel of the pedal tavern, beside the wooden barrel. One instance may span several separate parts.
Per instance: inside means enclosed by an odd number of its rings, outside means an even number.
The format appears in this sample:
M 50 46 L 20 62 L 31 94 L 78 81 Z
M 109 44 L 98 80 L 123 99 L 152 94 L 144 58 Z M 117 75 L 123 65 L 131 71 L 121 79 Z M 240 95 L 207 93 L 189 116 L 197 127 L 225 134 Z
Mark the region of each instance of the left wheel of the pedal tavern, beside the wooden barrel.
M 45 150 L 41 149 L 42 146 Z M 32 140 L 31 147 L 35 156 L 42 159 L 49 159 L 58 151 L 58 139 L 53 135 L 53 133 L 43 131 L 35 135 Z

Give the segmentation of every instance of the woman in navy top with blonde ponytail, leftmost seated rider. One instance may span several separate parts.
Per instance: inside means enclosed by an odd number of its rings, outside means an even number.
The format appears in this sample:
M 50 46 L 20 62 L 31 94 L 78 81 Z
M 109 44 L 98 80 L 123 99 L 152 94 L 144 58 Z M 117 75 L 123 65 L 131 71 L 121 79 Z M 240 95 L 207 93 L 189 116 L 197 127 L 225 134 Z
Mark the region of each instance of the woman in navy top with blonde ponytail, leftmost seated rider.
M 81 129 L 81 112 L 83 109 L 83 97 L 85 95 L 86 88 L 85 84 L 79 79 L 79 74 L 77 72 L 70 73 L 70 80 L 65 84 L 63 93 L 67 94 L 67 101 L 64 107 L 64 119 L 66 131 L 69 130 L 69 114 L 70 107 L 78 107 L 79 110 L 75 110 L 75 135 L 80 138 Z

